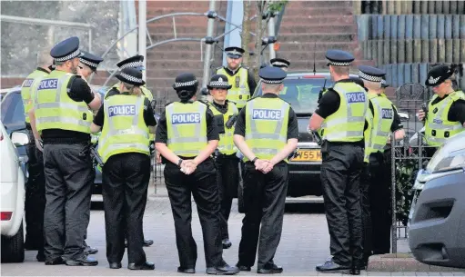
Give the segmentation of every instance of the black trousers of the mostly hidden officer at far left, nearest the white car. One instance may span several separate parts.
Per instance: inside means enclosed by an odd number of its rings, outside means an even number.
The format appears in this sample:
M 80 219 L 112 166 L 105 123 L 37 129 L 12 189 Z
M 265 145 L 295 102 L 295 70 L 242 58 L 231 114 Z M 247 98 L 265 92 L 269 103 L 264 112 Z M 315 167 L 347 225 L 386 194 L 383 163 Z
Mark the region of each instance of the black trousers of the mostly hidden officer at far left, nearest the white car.
M 30 249 L 44 252 L 44 156 L 35 146 L 32 131 L 28 131 L 28 134 L 31 143 L 25 146 L 29 173 L 25 185 L 25 244 Z

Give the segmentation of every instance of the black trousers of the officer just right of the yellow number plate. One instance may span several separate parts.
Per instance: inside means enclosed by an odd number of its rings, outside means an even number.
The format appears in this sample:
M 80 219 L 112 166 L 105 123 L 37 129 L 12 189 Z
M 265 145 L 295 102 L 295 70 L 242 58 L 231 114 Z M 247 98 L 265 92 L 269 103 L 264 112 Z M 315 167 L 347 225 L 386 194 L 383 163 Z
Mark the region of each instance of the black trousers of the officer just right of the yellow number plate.
M 333 260 L 340 265 L 359 265 L 362 260 L 360 175 L 363 148 L 353 144 L 331 144 L 323 153 L 321 184 L 328 221 Z M 353 262 L 353 263 L 352 263 Z

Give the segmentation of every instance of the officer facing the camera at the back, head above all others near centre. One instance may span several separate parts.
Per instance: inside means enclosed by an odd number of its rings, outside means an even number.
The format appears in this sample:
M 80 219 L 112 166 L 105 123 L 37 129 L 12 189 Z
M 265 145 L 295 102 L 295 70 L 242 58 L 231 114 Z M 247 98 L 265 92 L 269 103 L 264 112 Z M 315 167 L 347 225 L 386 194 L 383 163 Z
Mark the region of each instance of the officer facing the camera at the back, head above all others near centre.
M 242 67 L 242 55 L 246 52 L 244 49 L 231 46 L 225 48 L 225 52 L 227 66 L 218 67 L 217 74 L 227 76 L 227 83 L 232 85 L 227 91 L 227 99 L 234 102 L 240 110 L 254 93 L 257 83 L 248 67 Z

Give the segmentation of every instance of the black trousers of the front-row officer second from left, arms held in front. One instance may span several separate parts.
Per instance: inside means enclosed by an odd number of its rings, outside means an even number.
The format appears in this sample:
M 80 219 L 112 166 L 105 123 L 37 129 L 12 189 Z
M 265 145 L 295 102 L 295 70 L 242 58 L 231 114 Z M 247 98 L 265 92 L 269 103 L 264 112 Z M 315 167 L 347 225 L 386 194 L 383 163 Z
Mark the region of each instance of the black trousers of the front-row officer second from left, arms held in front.
M 144 153 L 119 153 L 106 161 L 102 172 L 105 209 L 106 259 L 121 262 L 127 236 L 127 261 L 142 264 L 142 218 L 147 204 L 150 157 Z

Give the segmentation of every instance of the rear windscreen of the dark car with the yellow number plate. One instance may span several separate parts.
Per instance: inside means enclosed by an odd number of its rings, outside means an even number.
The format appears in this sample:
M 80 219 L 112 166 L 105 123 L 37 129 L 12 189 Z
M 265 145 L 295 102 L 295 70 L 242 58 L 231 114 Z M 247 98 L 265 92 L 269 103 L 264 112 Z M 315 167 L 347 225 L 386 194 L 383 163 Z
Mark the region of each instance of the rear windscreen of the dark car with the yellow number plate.
M 324 78 L 286 79 L 284 80 L 284 89 L 279 93 L 279 97 L 291 104 L 296 114 L 312 114 L 317 109 L 318 94 L 324 84 Z M 332 84 L 332 81 L 326 81 L 327 88 Z M 255 95 L 261 94 L 260 85 Z

